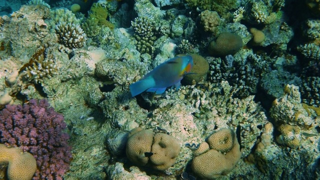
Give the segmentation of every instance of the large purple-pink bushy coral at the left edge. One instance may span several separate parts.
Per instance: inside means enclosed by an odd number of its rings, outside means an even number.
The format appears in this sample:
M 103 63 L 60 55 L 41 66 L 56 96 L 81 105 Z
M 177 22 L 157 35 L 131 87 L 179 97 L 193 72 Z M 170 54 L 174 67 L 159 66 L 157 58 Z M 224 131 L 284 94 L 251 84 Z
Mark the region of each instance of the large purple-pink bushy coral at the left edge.
M 46 99 L 6 105 L 0 111 L 0 143 L 18 146 L 36 159 L 33 179 L 62 179 L 72 159 L 63 116 Z

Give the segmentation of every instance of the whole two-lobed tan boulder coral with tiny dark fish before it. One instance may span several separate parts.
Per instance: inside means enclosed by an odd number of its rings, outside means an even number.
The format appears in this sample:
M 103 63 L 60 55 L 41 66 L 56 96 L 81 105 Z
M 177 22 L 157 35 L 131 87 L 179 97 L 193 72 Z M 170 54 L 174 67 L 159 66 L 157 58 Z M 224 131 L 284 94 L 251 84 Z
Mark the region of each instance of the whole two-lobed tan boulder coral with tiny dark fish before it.
M 153 169 L 165 170 L 174 164 L 180 151 L 180 144 L 174 137 L 165 133 L 136 127 L 128 135 L 126 156 L 136 165 L 149 163 Z

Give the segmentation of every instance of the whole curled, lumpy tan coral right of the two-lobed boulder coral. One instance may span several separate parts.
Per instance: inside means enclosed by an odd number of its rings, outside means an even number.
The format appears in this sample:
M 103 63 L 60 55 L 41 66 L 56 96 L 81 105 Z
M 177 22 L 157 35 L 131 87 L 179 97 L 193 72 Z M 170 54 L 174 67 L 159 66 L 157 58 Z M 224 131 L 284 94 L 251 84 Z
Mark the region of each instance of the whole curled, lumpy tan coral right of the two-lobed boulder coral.
M 208 137 L 207 143 L 210 149 L 207 151 L 206 144 L 201 143 L 201 151 L 204 153 L 196 153 L 198 155 L 191 162 L 192 171 L 201 178 L 212 179 L 225 175 L 241 158 L 240 145 L 231 129 L 218 130 Z

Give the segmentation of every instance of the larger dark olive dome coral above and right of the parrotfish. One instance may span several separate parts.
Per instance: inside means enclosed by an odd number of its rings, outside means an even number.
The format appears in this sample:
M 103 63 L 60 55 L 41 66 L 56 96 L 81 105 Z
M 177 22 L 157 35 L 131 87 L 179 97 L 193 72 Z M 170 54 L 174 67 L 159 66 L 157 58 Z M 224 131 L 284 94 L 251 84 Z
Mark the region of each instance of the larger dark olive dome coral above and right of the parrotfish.
M 222 32 L 211 41 L 208 46 L 208 52 L 212 56 L 224 57 L 226 55 L 235 54 L 242 47 L 242 38 L 231 32 Z

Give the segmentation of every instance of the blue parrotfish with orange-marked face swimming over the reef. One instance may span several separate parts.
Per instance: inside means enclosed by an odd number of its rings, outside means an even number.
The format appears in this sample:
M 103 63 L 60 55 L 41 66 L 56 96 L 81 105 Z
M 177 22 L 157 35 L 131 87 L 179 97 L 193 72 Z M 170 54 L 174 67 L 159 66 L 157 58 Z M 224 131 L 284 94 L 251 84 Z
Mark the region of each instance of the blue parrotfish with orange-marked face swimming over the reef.
M 192 66 L 193 59 L 190 55 L 170 58 L 130 84 L 131 95 L 133 97 L 144 91 L 161 94 L 169 86 L 179 89 L 181 79 L 190 73 Z

